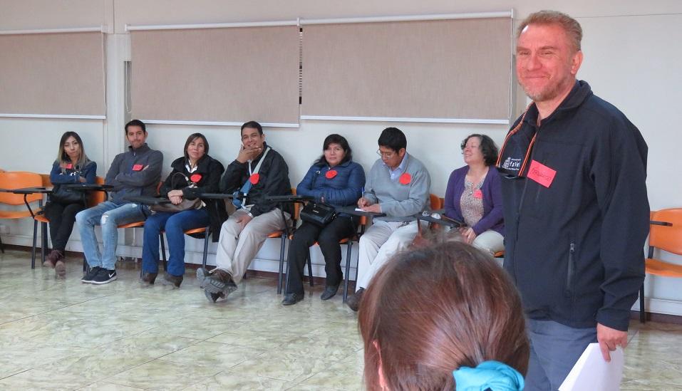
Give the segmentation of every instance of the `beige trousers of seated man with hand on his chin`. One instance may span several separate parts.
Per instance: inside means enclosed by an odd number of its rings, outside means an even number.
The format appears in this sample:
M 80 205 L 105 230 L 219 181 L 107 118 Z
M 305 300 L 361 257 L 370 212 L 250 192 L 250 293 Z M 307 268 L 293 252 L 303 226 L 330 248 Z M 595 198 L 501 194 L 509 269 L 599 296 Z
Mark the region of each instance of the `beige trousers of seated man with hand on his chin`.
M 215 253 L 216 270 L 227 271 L 234 283 L 242 281 L 244 273 L 265 243 L 268 234 L 285 228 L 278 208 L 254 217 L 242 228 L 237 219 L 245 214 L 247 212 L 244 209 L 239 209 L 222 223 Z M 284 215 L 288 220 L 289 214 Z

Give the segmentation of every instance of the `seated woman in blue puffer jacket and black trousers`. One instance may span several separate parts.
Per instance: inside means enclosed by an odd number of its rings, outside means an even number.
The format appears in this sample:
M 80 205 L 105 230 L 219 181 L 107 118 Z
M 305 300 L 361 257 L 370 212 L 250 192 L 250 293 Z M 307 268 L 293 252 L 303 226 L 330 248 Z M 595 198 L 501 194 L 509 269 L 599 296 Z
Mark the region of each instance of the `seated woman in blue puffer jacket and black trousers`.
M 329 135 L 324 139 L 323 155 L 310 167 L 306 177 L 296 187 L 296 194 L 314 197 L 316 202 L 324 202 L 334 207 L 357 204 L 365 186 L 365 171 L 353 162 L 348 141 L 341 135 Z M 317 226 L 304 221 L 296 229 L 294 239 L 289 245 L 289 273 L 284 306 L 296 304 L 304 298 L 303 268 L 308 257 L 308 248 L 315 241 L 320 245 L 324 256 L 326 287 L 322 300 L 336 295 L 343 280 L 341 272 L 341 245 L 339 241 L 351 236 L 357 229 L 357 221 L 346 214 L 339 214 L 326 226 Z

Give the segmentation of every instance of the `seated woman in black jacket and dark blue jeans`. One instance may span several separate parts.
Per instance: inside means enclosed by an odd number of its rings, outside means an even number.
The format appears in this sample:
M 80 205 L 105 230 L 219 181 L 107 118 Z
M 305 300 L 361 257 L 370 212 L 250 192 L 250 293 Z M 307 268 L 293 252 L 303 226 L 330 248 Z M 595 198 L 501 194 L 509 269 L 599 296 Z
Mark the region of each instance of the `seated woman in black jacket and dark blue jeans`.
M 208 155 L 209 145 L 201 133 L 193 133 L 185 142 L 185 155 L 172 162 L 172 172 L 161 185 L 159 193 L 170 202 L 180 205 L 184 200 L 194 201 L 202 193 L 218 192 L 224 167 Z M 200 200 L 199 207 L 180 212 L 155 212 L 145 221 L 145 240 L 142 247 L 142 281 L 155 282 L 159 270 L 159 233 L 165 230 L 168 241 L 167 270 L 162 278 L 164 285 L 180 288 L 185 275 L 185 231 L 212 226 L 218 232 L 227 216 L 222 200 Z M 217 234 L 213 235 L 217 240 Z

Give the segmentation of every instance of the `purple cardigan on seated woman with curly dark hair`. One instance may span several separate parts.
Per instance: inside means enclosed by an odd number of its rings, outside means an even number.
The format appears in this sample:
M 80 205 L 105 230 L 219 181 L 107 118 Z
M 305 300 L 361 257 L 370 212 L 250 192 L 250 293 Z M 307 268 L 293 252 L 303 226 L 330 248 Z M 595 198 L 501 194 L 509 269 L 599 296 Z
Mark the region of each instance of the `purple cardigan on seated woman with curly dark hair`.
M 448 180 L 448 189 L 445 189 L 445 216 L 458 221 L 464 221 L 460 199 L 464 192 L 464 180 L 467 172 L 469 172 L 469 166 L 460 167 L 453 171 Z M 500 174 L 497 173 L 495 167 L 488 167 L 481 192 L 483 193 L 483 217 L 471 228 L 477 235 L 492 229 L 505 236 Z

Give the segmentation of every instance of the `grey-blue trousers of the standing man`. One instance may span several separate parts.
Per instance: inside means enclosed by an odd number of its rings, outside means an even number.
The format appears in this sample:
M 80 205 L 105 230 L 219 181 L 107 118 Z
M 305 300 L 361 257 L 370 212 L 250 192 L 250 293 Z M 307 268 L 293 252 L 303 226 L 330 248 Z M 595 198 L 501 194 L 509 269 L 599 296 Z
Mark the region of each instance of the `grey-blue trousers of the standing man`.
M 559 390 L 590 343 L 596 328 L 572 328 L 552 320 L 526 320 L 530 360 L 524 391 Z

